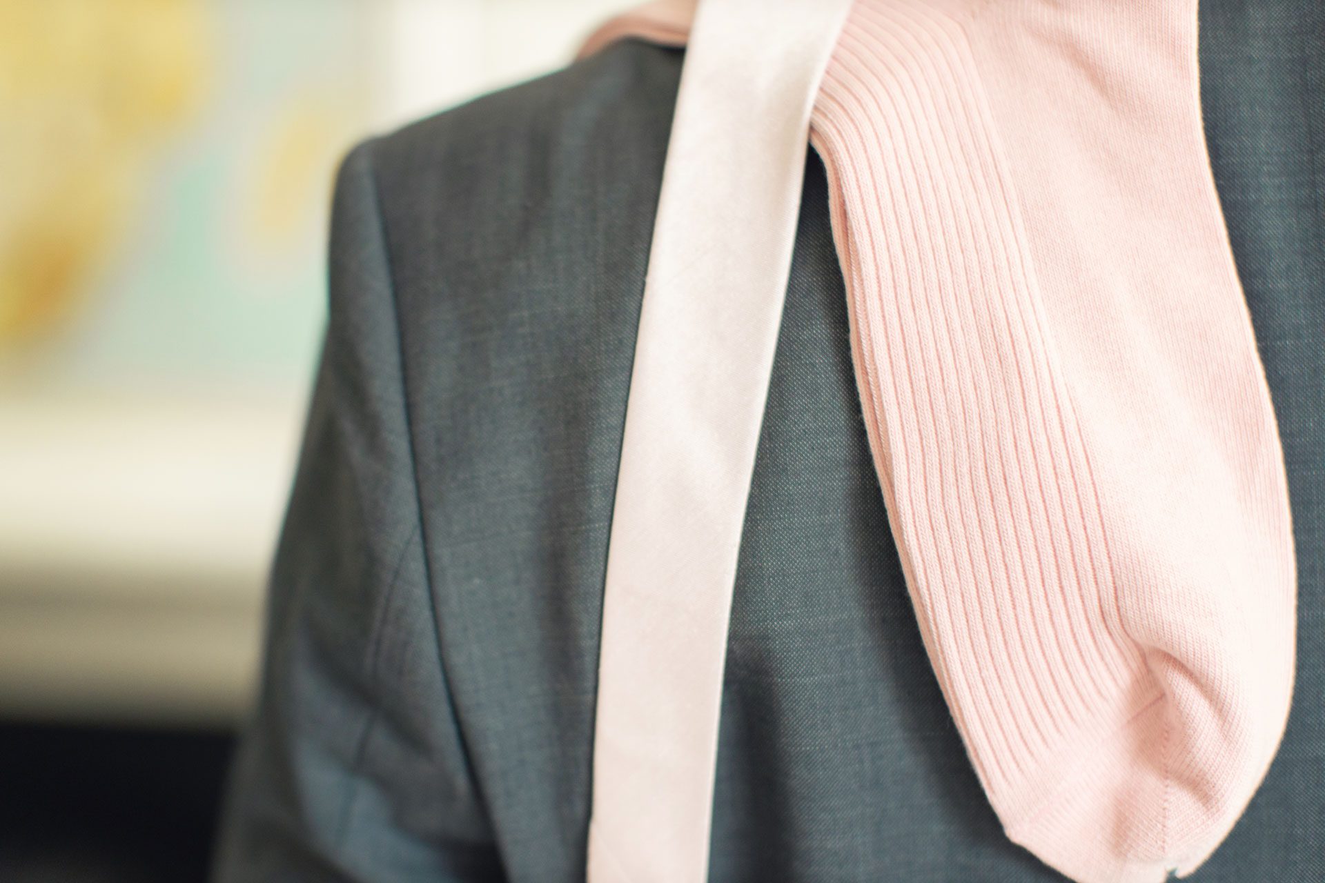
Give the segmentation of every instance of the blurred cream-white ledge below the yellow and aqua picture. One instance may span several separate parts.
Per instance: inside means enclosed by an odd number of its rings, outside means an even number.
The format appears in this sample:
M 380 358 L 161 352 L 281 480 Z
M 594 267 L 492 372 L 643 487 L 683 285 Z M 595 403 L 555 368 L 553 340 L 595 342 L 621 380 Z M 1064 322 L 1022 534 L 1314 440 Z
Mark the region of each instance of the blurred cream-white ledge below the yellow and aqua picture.
M 302 413 L 0 397 L 0 715 L 240 716 Z

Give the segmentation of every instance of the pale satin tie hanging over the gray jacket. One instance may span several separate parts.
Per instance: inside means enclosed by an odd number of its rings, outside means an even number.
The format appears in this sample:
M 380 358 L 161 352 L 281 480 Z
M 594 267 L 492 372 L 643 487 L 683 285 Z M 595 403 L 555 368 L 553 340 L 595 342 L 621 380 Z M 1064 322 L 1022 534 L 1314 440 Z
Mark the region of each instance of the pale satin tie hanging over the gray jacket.
M 694 21 L 610 534 L 588 879 L 705 879 L 731 588 L 791 269 L 810 111 L 847 0 Z

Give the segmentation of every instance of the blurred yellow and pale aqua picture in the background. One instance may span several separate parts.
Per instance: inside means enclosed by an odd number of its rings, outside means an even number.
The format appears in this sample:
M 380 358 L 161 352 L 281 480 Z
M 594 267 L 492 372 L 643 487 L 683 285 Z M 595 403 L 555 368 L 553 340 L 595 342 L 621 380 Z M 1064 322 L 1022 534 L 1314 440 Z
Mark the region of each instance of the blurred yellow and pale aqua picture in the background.
M 303 379 L 366 15 L 0 0 L 0 381 Z

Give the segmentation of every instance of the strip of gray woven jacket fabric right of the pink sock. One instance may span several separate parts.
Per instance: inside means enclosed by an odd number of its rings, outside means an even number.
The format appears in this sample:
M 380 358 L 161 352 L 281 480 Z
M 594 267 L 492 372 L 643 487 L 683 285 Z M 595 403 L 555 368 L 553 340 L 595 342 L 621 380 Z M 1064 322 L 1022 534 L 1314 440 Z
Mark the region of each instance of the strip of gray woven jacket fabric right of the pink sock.
M 1297 680 L 1260 792 L 1192 879 L 1325 880 L 1325 4 L 1200 4 L 1206 140 L 1279 418 Z

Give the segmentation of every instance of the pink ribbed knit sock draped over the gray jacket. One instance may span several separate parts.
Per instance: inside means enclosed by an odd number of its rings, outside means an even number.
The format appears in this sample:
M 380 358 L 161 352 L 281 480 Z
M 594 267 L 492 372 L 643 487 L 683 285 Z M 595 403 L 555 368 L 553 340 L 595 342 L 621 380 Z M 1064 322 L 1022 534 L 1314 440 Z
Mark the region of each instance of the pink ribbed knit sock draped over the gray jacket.
M 690 4 L 591 38 L 684 41 Z M 1199 866 L 1279 745 L 1296 575 L 1195 0 L 857 0 L 815 103 L 874 466 L 1008 837 Z

